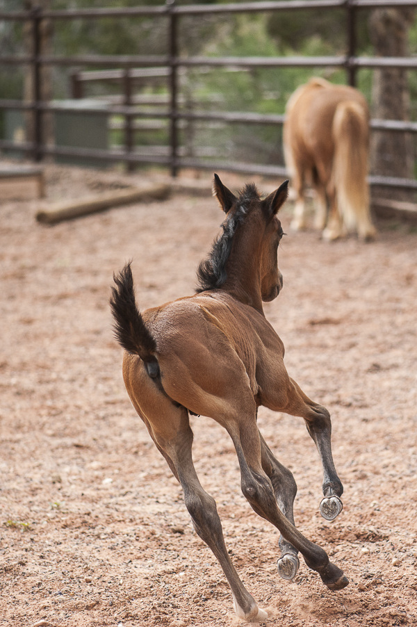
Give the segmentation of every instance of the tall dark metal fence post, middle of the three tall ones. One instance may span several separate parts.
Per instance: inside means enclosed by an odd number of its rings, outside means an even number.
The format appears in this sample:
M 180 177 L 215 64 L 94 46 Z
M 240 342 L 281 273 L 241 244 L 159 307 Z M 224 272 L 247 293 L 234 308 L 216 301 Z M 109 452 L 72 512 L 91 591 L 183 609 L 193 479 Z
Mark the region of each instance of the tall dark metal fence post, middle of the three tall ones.
M 166 0 L 167 11 L 170 19 L 170 50 L 169 50 L 169 65 L 170 65 L 170 148 L 171 148 L 171 176 L 177 177 L 178 174 L 178 67 L 177 67 L 177 15 L 174 12 L 175 0 Z

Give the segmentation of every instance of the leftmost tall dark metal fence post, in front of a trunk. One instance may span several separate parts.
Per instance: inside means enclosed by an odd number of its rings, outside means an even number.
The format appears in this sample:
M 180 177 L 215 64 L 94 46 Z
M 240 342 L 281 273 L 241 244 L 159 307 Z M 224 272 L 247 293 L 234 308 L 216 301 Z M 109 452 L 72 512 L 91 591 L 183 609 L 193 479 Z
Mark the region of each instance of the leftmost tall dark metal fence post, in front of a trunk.
M 37 6 L 32 11 L 33 29 L 33 142 L 35 144 L 33 157 L 35 161 L 41 161 L 42 151 L 42 67 L 40 61 L 42 8 Z

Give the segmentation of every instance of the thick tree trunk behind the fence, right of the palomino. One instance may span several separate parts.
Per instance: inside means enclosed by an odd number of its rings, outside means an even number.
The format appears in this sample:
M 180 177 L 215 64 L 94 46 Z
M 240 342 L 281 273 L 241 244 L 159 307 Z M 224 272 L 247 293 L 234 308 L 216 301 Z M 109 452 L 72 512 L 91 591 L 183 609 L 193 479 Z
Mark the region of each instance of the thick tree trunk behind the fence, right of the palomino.
M 377 56 L 408 56 L 408 29 L 413 9 L 382 8 L 370 16 L 369 30 Z M 373 117 L 409 120 L 410 95 L 407 70 L 382 68 L 373 74 Z M 414 149 L 411 133 L 373 131 L 370 170 L 387 177 L 414 178 Z M 391 190 L 398 198 L 398 190 Z M 389 191 L 384 190 L 388 197 Z

